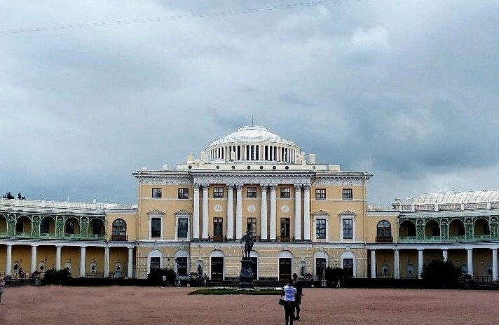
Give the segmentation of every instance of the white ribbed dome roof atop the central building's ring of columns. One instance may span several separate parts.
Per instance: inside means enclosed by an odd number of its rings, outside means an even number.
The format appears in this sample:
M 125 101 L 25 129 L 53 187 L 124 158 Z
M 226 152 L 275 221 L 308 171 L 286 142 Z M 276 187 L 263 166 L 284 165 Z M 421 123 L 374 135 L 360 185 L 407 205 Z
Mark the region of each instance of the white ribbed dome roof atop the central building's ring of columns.
M 270 132 L 267 127 L 260 125 L 245 125 L 238 127 L 236 132 L 232 132 L 223 138 L 213 141 L 208 147 L 216 146 L 218 144 L 247 142 L 269 142 L 272 144 L 287 144 L 288 146 L 296 146 L 293 141 L 279 137 L 278 134 Z

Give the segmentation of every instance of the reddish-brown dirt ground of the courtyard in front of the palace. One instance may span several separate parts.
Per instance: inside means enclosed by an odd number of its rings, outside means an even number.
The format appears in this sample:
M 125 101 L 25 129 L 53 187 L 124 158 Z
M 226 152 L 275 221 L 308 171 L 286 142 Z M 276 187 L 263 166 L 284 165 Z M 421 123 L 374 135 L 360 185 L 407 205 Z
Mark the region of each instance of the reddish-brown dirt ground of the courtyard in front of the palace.
M 499 324 L 499 291 L 303 289 L 305 324 Z M 278 296 L 189 296 L 191 288 L 7 287 L 1 325 L 285 324 Z

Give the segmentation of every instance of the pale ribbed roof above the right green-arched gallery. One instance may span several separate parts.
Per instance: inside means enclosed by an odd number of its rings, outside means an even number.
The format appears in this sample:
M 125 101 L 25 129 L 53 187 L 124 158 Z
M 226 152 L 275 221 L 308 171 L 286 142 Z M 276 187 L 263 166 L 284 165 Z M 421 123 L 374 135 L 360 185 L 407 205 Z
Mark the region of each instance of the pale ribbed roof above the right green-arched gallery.
M 402 204 L 423 203 L 461 203 L 461 202 L 496 202 L 499 201 L 498 190 L 470 191 L 470 192 L 447 192 L 447 193 L 425 193 L 414 198 L 408 198 Z

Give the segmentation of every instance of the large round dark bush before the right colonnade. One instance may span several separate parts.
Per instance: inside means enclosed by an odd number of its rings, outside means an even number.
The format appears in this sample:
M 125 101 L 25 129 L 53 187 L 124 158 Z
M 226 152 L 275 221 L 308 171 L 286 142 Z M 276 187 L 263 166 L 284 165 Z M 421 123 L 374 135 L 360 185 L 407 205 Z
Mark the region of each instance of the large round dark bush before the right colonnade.
M 421 277 L 430 286 L 437 288 L 449 288 L 458 283 L 461 270 L 451 261 L 444 261 L 443 258 L 435 258 L 423 264 Z

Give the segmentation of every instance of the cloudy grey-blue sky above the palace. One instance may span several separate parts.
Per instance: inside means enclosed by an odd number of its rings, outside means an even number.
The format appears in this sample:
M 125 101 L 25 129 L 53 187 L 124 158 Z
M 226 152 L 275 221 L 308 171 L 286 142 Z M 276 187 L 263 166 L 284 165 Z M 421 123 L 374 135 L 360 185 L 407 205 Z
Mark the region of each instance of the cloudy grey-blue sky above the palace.
M 0 1 L 0 191 L 134 203 L 252 114 L 371 204 L 499 188 L 498 1 L 287 4 Z

